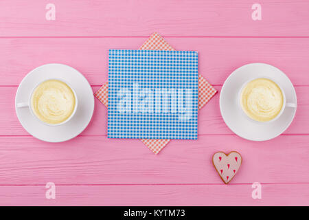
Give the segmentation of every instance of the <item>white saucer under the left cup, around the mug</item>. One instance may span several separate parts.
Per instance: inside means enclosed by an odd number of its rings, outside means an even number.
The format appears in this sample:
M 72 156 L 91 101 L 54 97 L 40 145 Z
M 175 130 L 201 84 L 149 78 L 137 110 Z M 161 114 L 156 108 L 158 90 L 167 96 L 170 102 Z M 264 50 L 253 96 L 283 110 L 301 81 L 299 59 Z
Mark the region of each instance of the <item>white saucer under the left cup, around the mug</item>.
M 15 106 L 27 102 L 32 89 L 48 78 L 60 78 L 76 91 L 78 109 L 69 122 L 59 126 L 48 126 L 35 118 L 28 108 L 16 108 L 16 115 L 23 128 L 32 136 L 45 142 L 65 142 L 80 134 L 89 124 L 94 110 L 93 91 L 80 72 L 67 65 L 52 63 L 33 69 L 21 81 L 16 92 Z

